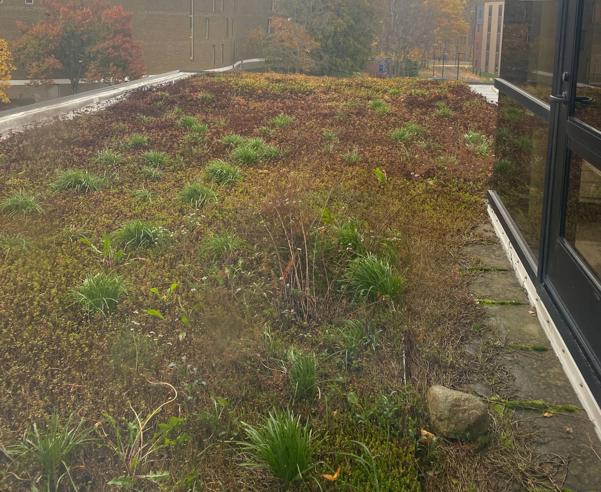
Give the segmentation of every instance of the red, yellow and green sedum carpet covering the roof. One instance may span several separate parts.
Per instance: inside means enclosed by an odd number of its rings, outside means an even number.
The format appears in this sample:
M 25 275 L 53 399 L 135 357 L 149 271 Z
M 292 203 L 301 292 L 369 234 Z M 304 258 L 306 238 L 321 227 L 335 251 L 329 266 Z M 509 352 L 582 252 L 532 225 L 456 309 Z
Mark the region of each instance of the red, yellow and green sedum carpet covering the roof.
M 430 384 L 506 396 L 458 254 L 494 126 L 462 83 L 227 74 L 0 141 L 0 490 L 535 481 L 502 405 L 421 431 Z

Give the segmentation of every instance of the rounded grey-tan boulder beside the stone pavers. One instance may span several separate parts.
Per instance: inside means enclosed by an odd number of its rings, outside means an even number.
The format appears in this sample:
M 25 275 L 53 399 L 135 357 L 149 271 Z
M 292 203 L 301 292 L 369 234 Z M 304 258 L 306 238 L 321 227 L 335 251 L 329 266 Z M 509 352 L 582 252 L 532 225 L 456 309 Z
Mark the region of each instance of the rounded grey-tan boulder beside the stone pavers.
M 476 439 L 489 430 L 487 405 L 474 395 L 436 385 L 428 390 L 427 400 L 438 436 Z

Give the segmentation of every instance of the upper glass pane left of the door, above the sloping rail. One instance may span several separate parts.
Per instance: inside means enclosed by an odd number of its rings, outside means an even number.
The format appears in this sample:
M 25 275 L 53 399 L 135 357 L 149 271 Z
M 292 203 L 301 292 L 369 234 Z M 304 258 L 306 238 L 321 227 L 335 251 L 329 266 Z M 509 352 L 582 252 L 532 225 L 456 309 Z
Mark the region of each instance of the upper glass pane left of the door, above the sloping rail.
M 506 0 L 501 77 L 549 102 L 557 0 Z

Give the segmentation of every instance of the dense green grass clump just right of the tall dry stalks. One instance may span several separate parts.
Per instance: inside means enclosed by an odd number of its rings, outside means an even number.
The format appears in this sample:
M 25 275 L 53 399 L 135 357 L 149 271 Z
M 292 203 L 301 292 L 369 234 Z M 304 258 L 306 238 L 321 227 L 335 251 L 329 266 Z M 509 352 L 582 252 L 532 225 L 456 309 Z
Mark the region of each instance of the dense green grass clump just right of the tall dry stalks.
M 340 281 L 344 288 L 361 299 L 397 297 L 403 293 L 405 280 L 397 275 L 388 260 L 367 253 L 350 260 Z

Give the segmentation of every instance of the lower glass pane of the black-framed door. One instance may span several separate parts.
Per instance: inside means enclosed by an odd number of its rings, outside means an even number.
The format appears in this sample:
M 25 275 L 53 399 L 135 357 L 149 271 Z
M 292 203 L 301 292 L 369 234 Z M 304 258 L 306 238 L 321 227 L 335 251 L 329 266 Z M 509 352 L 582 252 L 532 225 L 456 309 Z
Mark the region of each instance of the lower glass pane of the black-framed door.
M 601 169 L 574 153 L 564 237 L 601 278 Z

